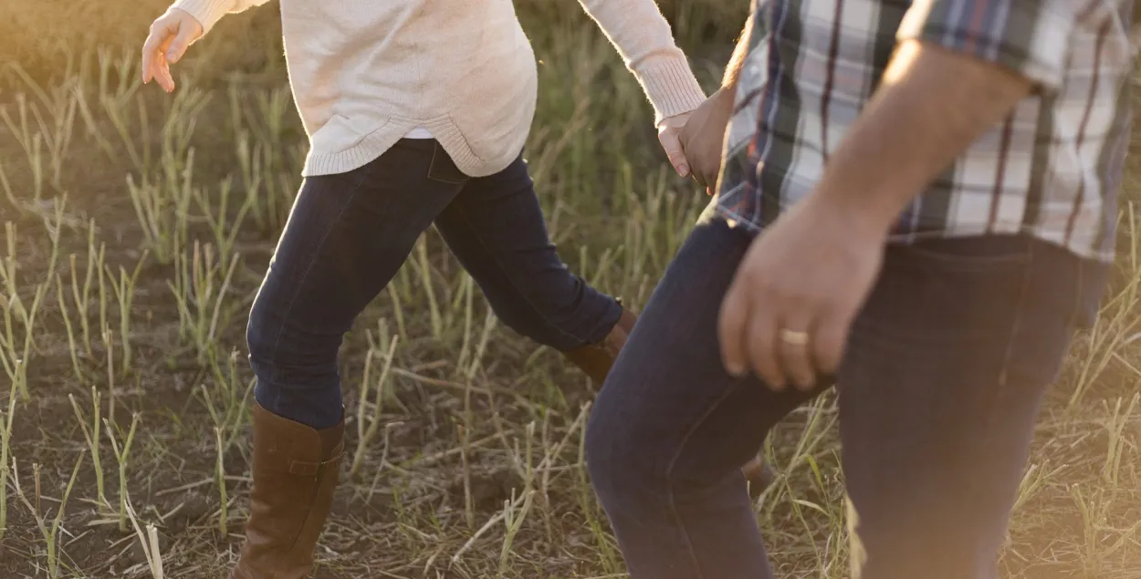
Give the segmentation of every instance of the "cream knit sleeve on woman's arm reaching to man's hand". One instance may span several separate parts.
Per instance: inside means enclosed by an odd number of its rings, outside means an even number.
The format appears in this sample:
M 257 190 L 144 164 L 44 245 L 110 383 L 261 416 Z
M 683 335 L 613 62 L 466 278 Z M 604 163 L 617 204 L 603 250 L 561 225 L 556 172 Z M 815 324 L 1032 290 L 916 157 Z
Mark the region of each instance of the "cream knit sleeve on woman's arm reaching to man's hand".
M 705 100 L 670 23 L 654 0 L 578 0 L 617 49 L 654 105 L 654 122 L 697 108 Z

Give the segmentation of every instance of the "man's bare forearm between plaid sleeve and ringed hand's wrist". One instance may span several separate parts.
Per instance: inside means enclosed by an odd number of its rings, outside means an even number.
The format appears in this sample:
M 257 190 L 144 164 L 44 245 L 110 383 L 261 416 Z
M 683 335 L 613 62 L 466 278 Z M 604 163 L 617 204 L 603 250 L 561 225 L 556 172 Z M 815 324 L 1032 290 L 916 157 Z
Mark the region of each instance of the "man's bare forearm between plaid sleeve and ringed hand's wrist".
M 997 65 L 905 41 L 828 158 L 817 191 L 887 233 L 912 199 L 1030 90 L 1028 80 Z

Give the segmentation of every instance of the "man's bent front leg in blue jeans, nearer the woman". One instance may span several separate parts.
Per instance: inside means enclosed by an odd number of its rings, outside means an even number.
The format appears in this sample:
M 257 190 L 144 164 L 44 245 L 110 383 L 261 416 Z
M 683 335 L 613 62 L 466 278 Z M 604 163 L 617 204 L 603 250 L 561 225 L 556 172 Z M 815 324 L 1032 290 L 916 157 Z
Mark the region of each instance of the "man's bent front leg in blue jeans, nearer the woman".
M 671 262 L 586 427 L 591 482 L 633 579 L 771 577 L 741 465 L 819 393 L 737 380 L 717 337 L 752 237 L 698 225 Z

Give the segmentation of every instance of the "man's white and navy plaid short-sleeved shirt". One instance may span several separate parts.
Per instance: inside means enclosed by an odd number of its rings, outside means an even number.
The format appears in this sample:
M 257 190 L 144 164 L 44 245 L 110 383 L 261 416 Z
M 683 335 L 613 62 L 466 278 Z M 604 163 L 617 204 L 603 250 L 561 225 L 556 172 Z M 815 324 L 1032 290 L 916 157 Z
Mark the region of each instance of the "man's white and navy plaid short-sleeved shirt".
M 898 41 L 1036 84 L 900 214 L 891 239 L 1027 233 L 1111 260 L 1131 127 L 1132 0 L 754 0 L 710 209 L 759 231 L 804 197 Z

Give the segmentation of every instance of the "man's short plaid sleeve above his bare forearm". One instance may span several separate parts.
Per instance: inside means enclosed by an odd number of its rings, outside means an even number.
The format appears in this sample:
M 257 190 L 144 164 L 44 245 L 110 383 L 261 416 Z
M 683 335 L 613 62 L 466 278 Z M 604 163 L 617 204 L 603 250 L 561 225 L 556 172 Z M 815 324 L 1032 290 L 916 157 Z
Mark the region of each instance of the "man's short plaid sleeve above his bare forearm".
M 897 39 L 995 63 L 1053 90 L 1065 75 L 1077 5 L 1077 0 L 916 0 Z

